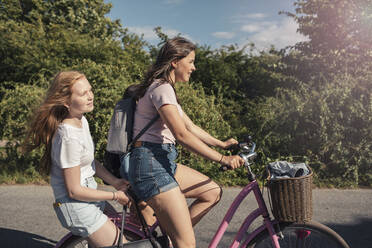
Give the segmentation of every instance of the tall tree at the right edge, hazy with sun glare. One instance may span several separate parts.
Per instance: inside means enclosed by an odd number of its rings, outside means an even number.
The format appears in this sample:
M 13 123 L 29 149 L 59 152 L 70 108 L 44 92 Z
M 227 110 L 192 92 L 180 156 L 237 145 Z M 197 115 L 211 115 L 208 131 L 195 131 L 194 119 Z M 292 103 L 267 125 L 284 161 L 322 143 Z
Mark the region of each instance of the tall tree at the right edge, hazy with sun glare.
M 301 82 L 298 97 L 306 102 L 301 89 L 305 84 L 313 99 L 310 109 L 316 115 L 304 116 L 305 109 L 298 113 L 313 123 L 313 134 L 309 129 L 301 135 L 325 165 L 324 175 L 370 185 L 371 175 L 365 172 L 372 163 L 366 145 L 372 143 L 372 1 L 304 0 L 295 6 L 295 13 L 285 14 L 295 19 L 298 31 L 309 40 L 296 44 L 284 57 L 282 72 Z M 295 139 L 291 142 L 296 144 Z M 295 147 L 291 149 L 296 154 Z

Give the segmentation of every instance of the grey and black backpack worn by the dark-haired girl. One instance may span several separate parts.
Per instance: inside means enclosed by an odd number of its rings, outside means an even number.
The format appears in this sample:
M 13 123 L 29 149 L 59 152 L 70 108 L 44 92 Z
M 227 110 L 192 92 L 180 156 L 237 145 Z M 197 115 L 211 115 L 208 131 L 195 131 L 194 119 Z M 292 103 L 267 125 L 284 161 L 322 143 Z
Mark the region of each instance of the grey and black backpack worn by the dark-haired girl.
M 114 176 L 120 178 L 120 156 L 129 152 L 132 145 L 160 117 L 157 114 L 133 139 L 133 122 L 137 101 L 134 92 L 137 85 L 129 86 L 114 108 L 110 129 L 107 136 L 107 146 L 104 154 L 105 168 Z

